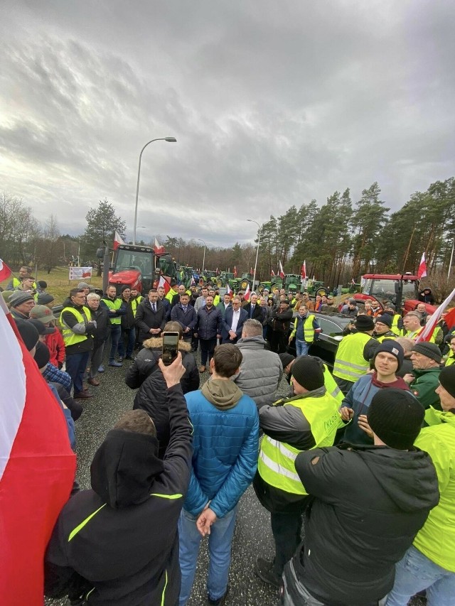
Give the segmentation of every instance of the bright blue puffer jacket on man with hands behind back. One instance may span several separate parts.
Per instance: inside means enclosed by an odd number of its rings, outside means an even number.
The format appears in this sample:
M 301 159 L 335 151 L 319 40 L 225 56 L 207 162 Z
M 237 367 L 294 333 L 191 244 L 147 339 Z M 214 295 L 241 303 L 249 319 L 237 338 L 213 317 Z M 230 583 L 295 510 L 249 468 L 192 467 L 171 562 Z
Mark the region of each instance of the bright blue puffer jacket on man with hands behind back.
M 208 501 L 222 518 L 235 507 L 257 469 L 259 418 L 255 401 L 242 395 L 220 410 L 200 391 L 186 394 L 193 423 L 193 468 L 183 508 L 197 516 Z

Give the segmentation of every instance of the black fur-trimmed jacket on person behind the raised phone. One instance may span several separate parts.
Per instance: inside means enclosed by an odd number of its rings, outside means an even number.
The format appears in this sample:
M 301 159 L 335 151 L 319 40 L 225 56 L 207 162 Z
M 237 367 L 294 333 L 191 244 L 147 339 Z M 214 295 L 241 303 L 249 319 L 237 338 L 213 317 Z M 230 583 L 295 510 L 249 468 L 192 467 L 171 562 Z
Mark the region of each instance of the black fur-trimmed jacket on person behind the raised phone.
M 178 350 L 182 355 L 185 374 L 180 379 L 183 394 L 198 389 L 200 375 L 196 359 L 191 353 L 191 344 L 180 340 Z M 163 351 L 163 340 L 154 338 L 144 341 L 144 348 L 127 370 L 125 383 L 131 389 L 138 389 L 134 396 L 133 408 L 141 408 L 149 413 L 156 427 L 159 440 L 159 458 L 164 458 L 169 441 L 169 411 L 166 403 L 166 382 L 158 366 Z

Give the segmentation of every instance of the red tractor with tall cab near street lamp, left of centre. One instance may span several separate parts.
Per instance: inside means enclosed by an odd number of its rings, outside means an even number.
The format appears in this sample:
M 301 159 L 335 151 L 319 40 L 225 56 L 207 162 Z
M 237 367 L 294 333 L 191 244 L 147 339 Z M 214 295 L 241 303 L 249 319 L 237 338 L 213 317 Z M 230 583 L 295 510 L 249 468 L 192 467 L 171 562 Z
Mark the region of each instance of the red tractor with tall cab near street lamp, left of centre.
M 109 286 L 115 286 L 117 294 L 127 284 L 144 295 L 158 286 L 160 276 L 168 283 L 176 281 L 176 264 L 168 252 L 156 254 L 151 247 L 119 244 L 109 271 Z

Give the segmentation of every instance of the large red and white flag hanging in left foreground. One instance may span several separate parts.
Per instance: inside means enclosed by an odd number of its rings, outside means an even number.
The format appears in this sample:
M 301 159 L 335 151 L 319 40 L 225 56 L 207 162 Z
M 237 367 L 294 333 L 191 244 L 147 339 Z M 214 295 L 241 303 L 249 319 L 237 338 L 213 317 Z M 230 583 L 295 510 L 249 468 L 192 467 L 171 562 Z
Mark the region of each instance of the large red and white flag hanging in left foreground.
M 63 412 L 0 297 L 0 595 L 43 604 L 43 559 L 76 472 Z

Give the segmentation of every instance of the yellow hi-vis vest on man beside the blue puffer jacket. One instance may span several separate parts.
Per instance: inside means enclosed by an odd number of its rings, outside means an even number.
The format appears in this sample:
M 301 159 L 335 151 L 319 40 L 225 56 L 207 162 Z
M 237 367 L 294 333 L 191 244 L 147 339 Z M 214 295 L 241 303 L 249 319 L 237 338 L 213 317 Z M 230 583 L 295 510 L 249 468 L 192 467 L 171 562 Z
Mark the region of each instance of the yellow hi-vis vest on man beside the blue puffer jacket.
M 343 426 L 339 404 L 328 392 L 323 396 L 292 399 L 284 406 L 300 408 L 311 426 L 316 444 L 314 448 L 333 446 L 336 431 Z M 284 442 L 272 440 L 268 435 L 262 438 L 257 471 L 270 486 L 291 492 L 308 494 L 296 473 L 295 460 L 301 450 Z

